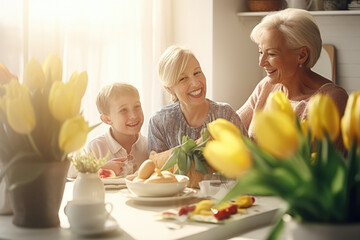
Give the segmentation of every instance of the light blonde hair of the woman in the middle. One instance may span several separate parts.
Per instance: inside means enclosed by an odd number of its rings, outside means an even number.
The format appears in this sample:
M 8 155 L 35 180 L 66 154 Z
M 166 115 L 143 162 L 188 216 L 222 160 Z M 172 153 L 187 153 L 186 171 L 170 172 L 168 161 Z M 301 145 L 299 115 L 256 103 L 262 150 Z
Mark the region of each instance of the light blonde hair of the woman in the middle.
M 170 46 L 164 51 L 159 60 L 159 77 L 165 88 L 178 83 L 190 56 L 195 57 L 189 49 L 180 46 Z M 177 100 L 176 96 L 172 96 L 173 102 Z

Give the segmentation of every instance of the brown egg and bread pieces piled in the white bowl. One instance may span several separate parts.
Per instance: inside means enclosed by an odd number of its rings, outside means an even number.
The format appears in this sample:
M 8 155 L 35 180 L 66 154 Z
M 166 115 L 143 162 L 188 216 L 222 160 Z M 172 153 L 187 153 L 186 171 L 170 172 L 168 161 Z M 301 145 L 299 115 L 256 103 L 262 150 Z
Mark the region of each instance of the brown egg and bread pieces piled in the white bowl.
M 179 181 L 182 179 L 180 178 Z M 155 167 L 155 162 L 148 159 L 144 161 L 139 167 L 138 176 L 133 179 L 133 182 L 143 183 L 172 183 L 178 182 L 175 175 L 169 171 L 161 171 Z

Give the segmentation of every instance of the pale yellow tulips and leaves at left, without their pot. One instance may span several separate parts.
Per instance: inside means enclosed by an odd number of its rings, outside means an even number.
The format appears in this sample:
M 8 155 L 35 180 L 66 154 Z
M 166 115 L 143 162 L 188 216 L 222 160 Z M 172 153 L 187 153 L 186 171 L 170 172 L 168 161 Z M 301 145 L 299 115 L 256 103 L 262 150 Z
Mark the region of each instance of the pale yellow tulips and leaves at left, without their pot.
M 14 189 L 39 176 L 45 164 L 67 160 L 81 148 L 89 127 L 80 114 L 87 73 L 74 72 L 62 82 L 62 62 L 49 55 L 44 64 L 31 59 L 23 81 L 0 65 L 0 179 L 8 170 Z

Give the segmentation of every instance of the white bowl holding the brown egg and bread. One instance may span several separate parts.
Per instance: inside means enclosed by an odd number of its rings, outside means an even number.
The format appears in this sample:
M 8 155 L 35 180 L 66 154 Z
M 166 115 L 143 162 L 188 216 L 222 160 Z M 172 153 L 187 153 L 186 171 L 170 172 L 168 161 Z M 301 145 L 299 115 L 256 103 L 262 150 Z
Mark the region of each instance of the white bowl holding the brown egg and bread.
M 186 188 L 189 177 L 176 175 L 178 182 L 173 183 L 143 183 L 133 182 L 136 175 L 129 175 L 125 178 L 126 187 L 133 194 L 139 197 L 168 197 L 176 195 Z

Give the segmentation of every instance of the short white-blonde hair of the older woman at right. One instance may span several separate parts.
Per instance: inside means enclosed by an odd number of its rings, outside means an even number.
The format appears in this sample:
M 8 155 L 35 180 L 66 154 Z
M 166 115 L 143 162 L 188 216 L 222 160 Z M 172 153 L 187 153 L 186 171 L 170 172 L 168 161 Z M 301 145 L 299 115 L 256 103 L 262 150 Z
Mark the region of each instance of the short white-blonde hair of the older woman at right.
M 308 47 L 310 55 L 305 65 L 310 68 L 315 65 L 320 57 L 322 40 L 319 27 L 308 11 L 287 8 L 269 13 L 252 30 L 251 40 L 259 44 L 263 32 L 270 29 L 279 30 L 289 48 Z

